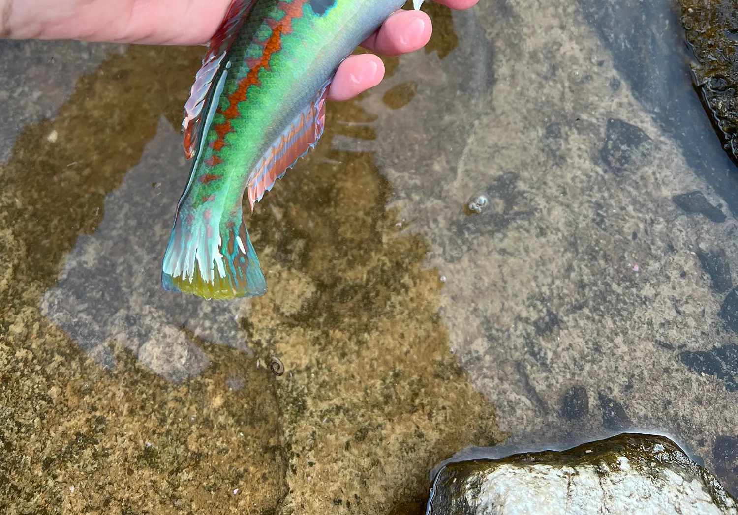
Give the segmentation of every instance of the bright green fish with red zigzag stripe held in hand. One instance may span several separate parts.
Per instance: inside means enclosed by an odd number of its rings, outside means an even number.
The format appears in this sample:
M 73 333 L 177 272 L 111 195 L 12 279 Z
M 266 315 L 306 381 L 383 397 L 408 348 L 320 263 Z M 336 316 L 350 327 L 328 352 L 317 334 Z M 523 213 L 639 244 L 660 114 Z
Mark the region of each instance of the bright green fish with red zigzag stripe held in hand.
M 317 144 L 339 64 L 404 3 L 232 0 L 184 105 L 192 164 L 162 261 L 165 290 L 207 299 L 266 293 L 244 193 L 253 212 Z

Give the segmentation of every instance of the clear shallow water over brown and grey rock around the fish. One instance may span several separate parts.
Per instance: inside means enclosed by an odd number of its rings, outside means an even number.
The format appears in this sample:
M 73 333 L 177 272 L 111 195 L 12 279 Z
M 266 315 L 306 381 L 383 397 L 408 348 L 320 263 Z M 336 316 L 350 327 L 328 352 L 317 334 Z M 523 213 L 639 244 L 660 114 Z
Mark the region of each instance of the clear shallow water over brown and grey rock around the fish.
M 676 7 L 548 3 L 432 7 L 234 302 L 158 284 L 202 49 L 1 42 L 0 507 L 414 513 L 443 460 L 623 430 L 737 491 L 738 175 Z

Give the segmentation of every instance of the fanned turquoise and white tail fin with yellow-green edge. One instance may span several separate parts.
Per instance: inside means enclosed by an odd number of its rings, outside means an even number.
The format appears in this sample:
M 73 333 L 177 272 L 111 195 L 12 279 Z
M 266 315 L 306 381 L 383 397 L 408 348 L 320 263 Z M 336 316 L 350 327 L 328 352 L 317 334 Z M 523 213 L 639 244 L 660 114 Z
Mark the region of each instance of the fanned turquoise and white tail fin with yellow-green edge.
M 208 299 L 266 293 L 266 279 L 240 206 L 222 222 L 212 212 L 201 218 L 204 223 L 193 223 L 194 219 L 177 214 L 162 264 L 164 289 Z

